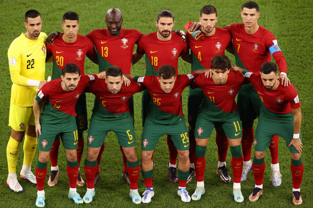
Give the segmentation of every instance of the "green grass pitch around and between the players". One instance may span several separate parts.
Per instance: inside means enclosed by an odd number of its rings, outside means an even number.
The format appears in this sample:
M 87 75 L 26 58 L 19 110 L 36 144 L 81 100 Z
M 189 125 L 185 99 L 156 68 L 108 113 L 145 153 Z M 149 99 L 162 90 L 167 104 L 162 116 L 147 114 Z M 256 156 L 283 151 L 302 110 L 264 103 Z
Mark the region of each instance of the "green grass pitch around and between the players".
M 23 186 L 22 193 L 13 193 L 6 185 L 8 174 L 6 160 L 6 146 L 10 137 L 11 128 L 8 127 L 9 104 L 10 104 L 10 88 L 11 80 L 8 68 L 7 51 L 11 42 L 18 37 L 26 29 L 23 25 L 24 14 L 29 9 L 38 10 L 43 19 L 42 31 L 49 34 L 52 31 L 61 31 L 62 16 L 67 11 L 75 11 L 80 17 L 79 33 L 85 35 L 93 29 L 106 27 L 105 13 L 109 8 L 117 7 L 123 14 L 123 28 L 135 28 L 142 33 L 150 33 L 156 31 L 155 19 L 157 13 L 162 9 L 170 9 L 175 16 L 174 29 L 183 29 L 183 26 L 189 21 L 198 21 L 200 9 L 206 4 L 212 4 L 218 11 L 218 27 L 223 27 L 233 23 L 241 23 L 240 11 L 245 1 L 225 0 L 225 1 L 139 1 L 139 0 L 116 0 L 116 1 L 8 1 L 4 0 L 0 3 L 2 12 L 2 21 L 0 21 L 0 71 L 1 82 L 0 87 L 0 121 L 2 145 L 0 146 L 0 207 L 35 207 L 36 186 L 31 185 L 29 181 L 19 180 Z M 291 1 L 291 0 L 259 0 L 261 16 L 259 24 L 271 31 L 277 38 L 278 43 L 288 65 L 288 77 L 295 85 L 299 93 L 302 104 L 302 136 L 303 136 L 303 161 L 305 166 L 304 177 L 301 186 L 303 196 L 302 207 L 313 207 L 312 199 L 312 136 L 313 128 L 312 119 L 312 25 L 310 20 L 312 17 L 313 3 L 310 0 Z M 135 46 L 136 50 L 136 46 Z M 234 63 L 234 57 L 227 53 Z M 123 57 L 121 57 L 122 59 Z M 273 60 L 274 61 L 274 60 Z M 144 75 L 144 58 L 132 67 L 132 74 Z M 98 66 L 86 59 L 86 74 L 98 71 Z M 178 70 L 180 73 L 187 73 L 191 70 L 189 63 L 179 60 Z M 46 65 L 46 77 L 52 73 L 52 64 Z M 183 94 L 183 110 L 187 115 L 187 95 L 186 89 Z M 88 103 L 88 119 L 91 116 L 94 96 L 87 95 Z M 135 131 L 137 137 L 137 154 L 141 159 L 141 93 L 135 94 Z M 187 118 L 186 118 L 187 119 Z M 187 123 L 187 120 L 186 120 Z M 256 124 L 256 123 L 255 123 Z M 85 132 L 85 138 L 87 132 Z M 206 154 L 207 166 L 205 175 L 206 193 L 200 201 L 191 201 L 184 203 L 177 195 L 178 184 L 170 184 L 167 181 L 167 162 L 168 149 L 166 137 L 163 136 L 156 147 L 154 161 L 156 169 L 154 172 L 154 190 L 155 196 L 150 204 L 135 205 L 128 196 L 129 186 L 122 180 L 122 157 L 117 139 L 114 133 L 109 133 L 105 140 L 105 151 L 102 155 L 100 166 L 100 181 L 98 181 L 95 190 L 96 196 L 91 204 L 83 204 L 81 207 L 293 207 L 292 204 L 292 180 L 290 172 L 290 156 L 286 148 L 286 142 L 280 138 L 279 159 L 280 172 L 282 174 L 282 184 L 274 187 L 269 181 L 270 178 L 270 155 L 266 153 L 266 169 L 264 174 L 264 194 L 257 202 L 249 202 L 248 197 L 254 187 L 254 178 L 249 173 L 247 181 L 243 182 L 242 193 L 244 202 L 242 204 L 235 203 L 232 195 L 232 182 L 224 184 L 216 175 L 217 167 L 217 147 L 215 144 L 215 133 L 212 134 L 208 144 Z M 83 163 L 86 157 L 86 148 L 82 157 Z M 252 151 L 254 152 L 254 150 Z M 311 152 L 311 153 L 310 153 Z M 253 154 L 253 153 L 252 153 Z M 36 152 L 33 162 L 32 171 L 35 172 L 35 164 L 38 158 Z M 231 171 L 231 155 L 228 151 L 227 167 Z M 20 154 L 17 165 L 17 173 L 19 173 L 23 162 L 23 145 L 20 146 Z M 49 187 L 45 185 L 46 207 L 76 207 L 73 201 L 67 197 L 69 190 L 68 178 L 66 174 L 66 157 L 63 147 L 60 147 L 59 154 L 60 176 L 58 185 Z M 50 171 L 50 162 L 48 162 L 48 175 Z M 84 171 L 81 171 L 82 177 L 85 178 Z M 48 178 L 47 178 L 48 180 Z M 139 192 L 144 191 L 144 182 L 142 177 L 139 179 Z M 187 191 L 190 195 L 196 188 L 196 179 L 187 184 Z M 77 187 L 78 193 L 84 196 L 86 186 Z

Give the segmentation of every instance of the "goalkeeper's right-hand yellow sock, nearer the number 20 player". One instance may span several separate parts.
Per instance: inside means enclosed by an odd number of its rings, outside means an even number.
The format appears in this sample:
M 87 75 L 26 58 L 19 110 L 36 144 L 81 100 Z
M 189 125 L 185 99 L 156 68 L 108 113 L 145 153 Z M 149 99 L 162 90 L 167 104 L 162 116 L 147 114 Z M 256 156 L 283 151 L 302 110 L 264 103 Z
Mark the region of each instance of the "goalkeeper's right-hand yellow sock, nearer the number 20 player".
M 37 142 L 36 137 L 31 137 L 31 136 L 28 136 L 27 134 L 25 135 L 24 146 L 23 146 L 23 150 L 24 150 L 23 164 L 27 166 L 32 165 L 36 148 L 37 148 L 37 144 L 38 142 Z

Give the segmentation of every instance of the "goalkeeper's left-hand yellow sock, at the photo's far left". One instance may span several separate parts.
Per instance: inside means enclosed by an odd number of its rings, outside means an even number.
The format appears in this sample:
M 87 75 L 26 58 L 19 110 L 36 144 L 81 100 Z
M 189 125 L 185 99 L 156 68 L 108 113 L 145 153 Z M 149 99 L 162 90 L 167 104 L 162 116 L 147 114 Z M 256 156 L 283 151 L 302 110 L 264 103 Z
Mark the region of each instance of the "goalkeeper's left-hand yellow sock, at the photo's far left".
M 8 159 L 8 169 L 9 172 L 16 172 L 16 164 L 18 163 L 18 149 L 21 142 L 17 142 L 12 137 L 10 137 L 7 145 L 7 159 Z

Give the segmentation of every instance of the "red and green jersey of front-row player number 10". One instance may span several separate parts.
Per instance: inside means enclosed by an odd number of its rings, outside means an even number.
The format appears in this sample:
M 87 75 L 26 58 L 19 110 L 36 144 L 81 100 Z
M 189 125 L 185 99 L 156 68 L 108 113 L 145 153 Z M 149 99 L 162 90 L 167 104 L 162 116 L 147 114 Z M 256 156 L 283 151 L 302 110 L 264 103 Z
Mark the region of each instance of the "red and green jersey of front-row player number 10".
M 61 78 L 54 79 L 42 86 L 36 94 L 37 102 L 47 100 L 40 115 L 40 123 L 63 123 L 73 119 L 75 122 L 75 104 L 80 94 L 85 90 L 90 80 L 98 78 L 97 75 L 82 75 L 74 91 L 64 91 L 61 88 Z

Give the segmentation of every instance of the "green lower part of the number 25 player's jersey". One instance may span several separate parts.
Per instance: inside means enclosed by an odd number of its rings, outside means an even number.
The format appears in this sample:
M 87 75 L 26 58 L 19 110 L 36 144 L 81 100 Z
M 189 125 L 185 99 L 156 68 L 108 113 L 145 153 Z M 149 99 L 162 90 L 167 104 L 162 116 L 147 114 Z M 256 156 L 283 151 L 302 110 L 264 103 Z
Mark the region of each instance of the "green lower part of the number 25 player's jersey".
M 151 102 L 146 122 L 150 124 L 174 125 L 185 122 L 185 118 L 184 116 L 164 112 Z

